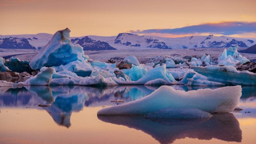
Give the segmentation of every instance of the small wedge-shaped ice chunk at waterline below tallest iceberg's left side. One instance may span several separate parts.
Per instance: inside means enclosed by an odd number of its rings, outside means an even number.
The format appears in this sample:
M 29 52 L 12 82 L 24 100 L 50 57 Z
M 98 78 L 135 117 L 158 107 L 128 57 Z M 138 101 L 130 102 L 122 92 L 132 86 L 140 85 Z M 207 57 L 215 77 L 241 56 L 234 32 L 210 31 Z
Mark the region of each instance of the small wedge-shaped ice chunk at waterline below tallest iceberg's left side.
M 19 82 L 18 85 L 50 85 L 53 71 L 53 68 L 46 68 L 36 76 L 30 77 L 25 82 Z

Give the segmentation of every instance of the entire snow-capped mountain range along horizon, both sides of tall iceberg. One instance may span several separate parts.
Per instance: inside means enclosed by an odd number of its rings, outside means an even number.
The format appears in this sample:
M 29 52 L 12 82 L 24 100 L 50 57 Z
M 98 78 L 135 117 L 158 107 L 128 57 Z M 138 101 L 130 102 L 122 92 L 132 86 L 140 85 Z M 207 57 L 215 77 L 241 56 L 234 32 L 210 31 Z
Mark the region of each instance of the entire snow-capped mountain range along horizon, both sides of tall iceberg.
M 0 48 L 40 49 L 49 42 L 52 34 L 36 35 L 0 35 Z M 228 36 L 185 36 L 177 38 L 139 36 L 120 33 L 117 36 L 81 36 L 71 37 L 73 44 L 80 44 L 84 50 L 130 50 L 130 49 L 182 49 L 182 48 L 220 48 L 250 47 L 256 44 L 253 39 Z

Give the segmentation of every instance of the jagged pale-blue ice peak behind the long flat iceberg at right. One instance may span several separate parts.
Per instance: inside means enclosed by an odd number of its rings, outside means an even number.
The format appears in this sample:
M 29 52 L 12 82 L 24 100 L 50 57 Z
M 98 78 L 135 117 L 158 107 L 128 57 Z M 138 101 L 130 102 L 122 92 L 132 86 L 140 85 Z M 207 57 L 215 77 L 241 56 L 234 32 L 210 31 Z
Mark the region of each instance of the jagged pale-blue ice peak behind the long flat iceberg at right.
M 237 52 L 238 46 L 229 47 L 228 50 L 224 50 L 218 57 L 218 65 L 236 66 L 249 62 L 247 58 L 243 57 Z

